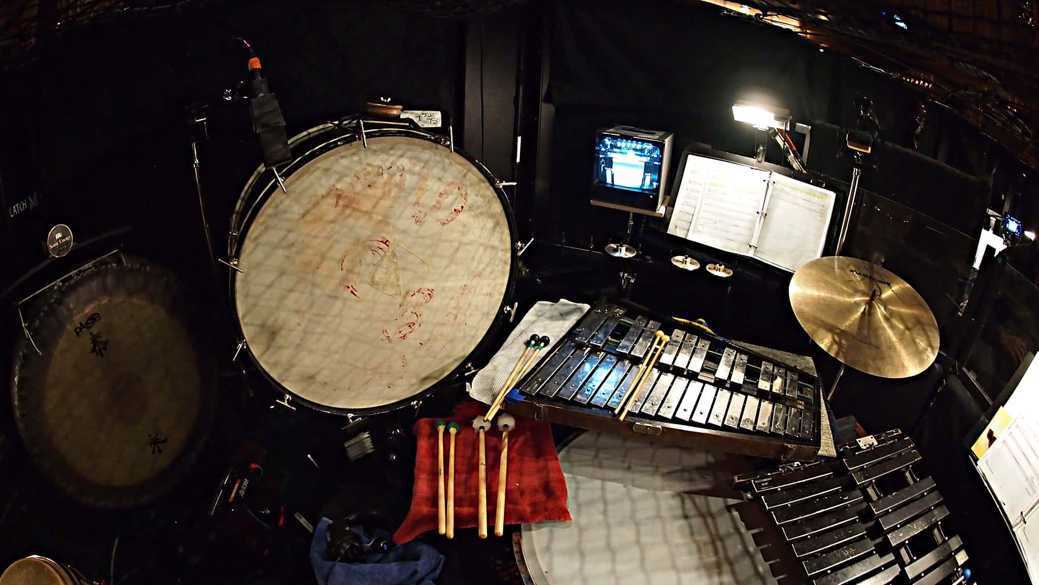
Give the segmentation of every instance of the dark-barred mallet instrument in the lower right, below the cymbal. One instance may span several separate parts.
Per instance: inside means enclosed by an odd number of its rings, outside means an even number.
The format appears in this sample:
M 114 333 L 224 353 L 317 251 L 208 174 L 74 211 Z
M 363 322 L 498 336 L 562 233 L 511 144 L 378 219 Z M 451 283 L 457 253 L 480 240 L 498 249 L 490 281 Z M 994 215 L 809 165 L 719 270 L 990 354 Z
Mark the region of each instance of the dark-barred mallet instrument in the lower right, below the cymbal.
M 739 476 L 737 506 L 780 585 L 947 585 L 966 551 L 942 522 L 949 509 L 900 430 L 838 449 L 841 458 Z M 772 558 L 768 558 L 771 556 Z M 773 562 L 774 561 L 774 562 Z

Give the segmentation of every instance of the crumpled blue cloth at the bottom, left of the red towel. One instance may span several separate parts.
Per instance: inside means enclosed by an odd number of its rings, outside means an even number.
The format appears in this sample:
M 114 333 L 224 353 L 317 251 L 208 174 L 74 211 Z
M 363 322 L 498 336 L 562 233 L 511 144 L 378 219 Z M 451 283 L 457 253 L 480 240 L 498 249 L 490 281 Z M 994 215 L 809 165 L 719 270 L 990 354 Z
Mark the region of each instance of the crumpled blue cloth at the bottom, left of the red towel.
M 336 559 L 325 556 L 325 534 L 330 525 L 330 520 L 321 518 L 311 540 L 311 564 L 318 585 L 433 585 L 433 579 L 444 567 L 444 555 L 418 540 L 385 553 L 371 553 L 363 561 L 336 563 Z M 362 527 L 352 527 L 351 530 L 363 542 L 369 542 L 373 537 L 390 540 L 390 533 L 384 530 L 376 530 L 373 534 L 366 533 Z

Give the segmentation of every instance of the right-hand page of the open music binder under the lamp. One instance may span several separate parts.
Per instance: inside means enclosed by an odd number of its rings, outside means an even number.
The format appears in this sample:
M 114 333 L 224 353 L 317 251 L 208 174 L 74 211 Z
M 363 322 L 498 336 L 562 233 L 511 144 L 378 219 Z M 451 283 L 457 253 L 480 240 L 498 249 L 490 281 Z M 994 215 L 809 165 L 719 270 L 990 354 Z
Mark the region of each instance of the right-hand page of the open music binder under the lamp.
M 835 195 L 833 191 L 776 172 L 753 256 L 796 271 L 823 254 Z

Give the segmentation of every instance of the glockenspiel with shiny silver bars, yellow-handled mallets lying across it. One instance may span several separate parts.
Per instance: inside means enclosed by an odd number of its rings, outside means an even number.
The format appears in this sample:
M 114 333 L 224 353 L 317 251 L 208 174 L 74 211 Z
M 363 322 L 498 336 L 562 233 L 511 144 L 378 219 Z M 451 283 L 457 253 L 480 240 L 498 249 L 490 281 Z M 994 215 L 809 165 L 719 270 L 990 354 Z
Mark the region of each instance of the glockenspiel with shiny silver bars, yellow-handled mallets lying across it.
M 669 341 L 650 356 L 658 331 Z M 624 301 L 600 299 L 515 388 L 508 409 L 539 420 L 773 458 L 819 452 L 816 376 Z

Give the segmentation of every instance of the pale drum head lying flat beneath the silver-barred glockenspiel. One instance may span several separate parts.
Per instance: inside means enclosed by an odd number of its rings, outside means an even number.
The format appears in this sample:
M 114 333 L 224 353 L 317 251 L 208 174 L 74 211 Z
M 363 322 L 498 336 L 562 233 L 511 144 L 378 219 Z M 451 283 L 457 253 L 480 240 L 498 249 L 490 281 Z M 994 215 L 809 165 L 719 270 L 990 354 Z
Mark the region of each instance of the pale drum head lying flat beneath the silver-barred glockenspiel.
M 710 453 L 586 432 L 559 454 L 574 522 L 523 527 L 537 585 L 775 585 Z M 730 478 L 728 478 L 730 479 Z

